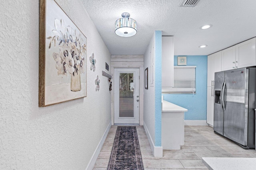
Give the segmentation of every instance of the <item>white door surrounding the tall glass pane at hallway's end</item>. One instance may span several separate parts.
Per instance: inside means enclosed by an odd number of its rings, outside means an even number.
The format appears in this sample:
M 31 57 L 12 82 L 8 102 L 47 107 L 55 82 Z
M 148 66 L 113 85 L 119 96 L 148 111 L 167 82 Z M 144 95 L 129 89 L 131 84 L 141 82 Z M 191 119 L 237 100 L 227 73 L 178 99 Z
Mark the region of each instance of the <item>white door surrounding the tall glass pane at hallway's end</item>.
M 119 117 L 119 75 L 120 73 L 134 74 L 134 117 Z M 114 68 L 114 123 L 139 124 L 140 123 L 140 69 Z

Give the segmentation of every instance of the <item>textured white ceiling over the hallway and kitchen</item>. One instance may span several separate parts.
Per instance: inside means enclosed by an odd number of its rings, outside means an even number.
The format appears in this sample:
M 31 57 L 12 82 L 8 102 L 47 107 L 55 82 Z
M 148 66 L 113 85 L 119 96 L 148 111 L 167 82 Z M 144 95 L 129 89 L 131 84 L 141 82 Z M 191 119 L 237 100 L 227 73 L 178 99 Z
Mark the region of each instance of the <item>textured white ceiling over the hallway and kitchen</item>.
M 209 55 L 256 36 L 256 0 L 200 0 L 195 7 L 179 7 L 182 0 L 81 1 L 112 55 L 144 55 L 155 30 L 174 36 L 174 55 Z M 133 37 L 114 32 L 123 12 L 137 21 Z

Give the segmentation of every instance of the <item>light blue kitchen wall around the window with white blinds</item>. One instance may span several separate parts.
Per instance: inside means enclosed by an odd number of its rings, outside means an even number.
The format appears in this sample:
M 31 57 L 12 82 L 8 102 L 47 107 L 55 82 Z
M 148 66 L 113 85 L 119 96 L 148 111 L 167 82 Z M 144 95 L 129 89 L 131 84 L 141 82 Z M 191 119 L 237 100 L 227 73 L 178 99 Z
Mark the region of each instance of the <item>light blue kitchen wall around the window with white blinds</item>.
M 174 56 L 174 66 L 177 57 Z M 163 94 L 164 100 L 188 109 L 185 120 L 206 120 L 207 55 L 188 55 L 187 65 L 196 66 L 196 94 Z

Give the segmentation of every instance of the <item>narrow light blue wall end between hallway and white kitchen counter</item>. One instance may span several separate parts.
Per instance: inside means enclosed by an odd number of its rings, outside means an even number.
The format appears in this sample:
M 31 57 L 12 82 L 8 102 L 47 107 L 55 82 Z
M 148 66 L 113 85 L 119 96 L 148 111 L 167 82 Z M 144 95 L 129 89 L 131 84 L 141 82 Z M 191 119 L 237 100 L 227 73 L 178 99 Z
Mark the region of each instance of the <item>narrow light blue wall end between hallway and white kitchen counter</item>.
M 162 31 L 155 31 L 155 146 L 162 136 Z

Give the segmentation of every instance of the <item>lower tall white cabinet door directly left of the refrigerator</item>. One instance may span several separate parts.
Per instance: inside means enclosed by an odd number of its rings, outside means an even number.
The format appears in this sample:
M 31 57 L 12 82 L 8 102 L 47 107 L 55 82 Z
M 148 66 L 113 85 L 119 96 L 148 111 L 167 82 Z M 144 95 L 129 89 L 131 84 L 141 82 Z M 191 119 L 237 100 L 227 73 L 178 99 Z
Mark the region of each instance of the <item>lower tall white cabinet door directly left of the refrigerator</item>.
M 214 115 L 214 87 L 207 87 L 207 120 L 206 123 L 213 126 Z

